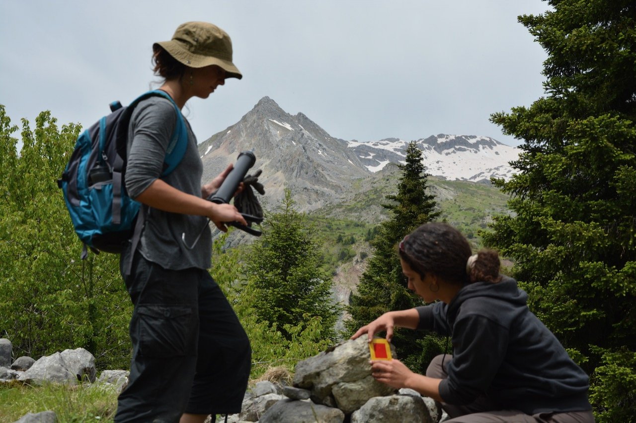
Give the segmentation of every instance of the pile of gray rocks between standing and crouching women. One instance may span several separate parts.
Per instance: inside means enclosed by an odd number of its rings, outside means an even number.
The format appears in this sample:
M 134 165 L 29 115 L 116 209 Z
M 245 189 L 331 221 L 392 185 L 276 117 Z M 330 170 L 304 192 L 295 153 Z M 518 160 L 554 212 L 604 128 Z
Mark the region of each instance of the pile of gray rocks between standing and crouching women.
M 395 356 L 395 351 L 392 351 Z M 437 423 L 441 409 L 411 389 L 396 391 L 371 376 L 366 337 L 349 340 L 296 365 L 293 386 L 258 382 L 245 394 L 244 423 Z

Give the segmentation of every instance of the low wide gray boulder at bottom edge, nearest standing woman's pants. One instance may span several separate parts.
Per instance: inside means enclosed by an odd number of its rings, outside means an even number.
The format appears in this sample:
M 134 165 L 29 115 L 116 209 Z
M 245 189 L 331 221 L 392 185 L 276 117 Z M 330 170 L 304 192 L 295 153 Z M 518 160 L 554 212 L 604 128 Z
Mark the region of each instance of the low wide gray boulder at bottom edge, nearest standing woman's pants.
M 342 423 L 345 413 L 338 408 L 311 401 L 282 400 L 272 405 L 259 423 Z

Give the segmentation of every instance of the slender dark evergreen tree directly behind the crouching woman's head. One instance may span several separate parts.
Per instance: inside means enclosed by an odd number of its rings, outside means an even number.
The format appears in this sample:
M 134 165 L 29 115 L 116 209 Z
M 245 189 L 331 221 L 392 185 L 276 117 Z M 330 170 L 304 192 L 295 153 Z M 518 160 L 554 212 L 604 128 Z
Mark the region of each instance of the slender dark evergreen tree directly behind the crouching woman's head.
M 350 319 L 346 325 L 351 332 L 384 312 L 422 304 L 404 281 L 396 245 L 413 229 L 438 217 L 439 211 L 435 210 L 434 196 L 427 193 L 429 175 L 422 163 L 422 151 L 415 142 L 406 148 L 406 163 L 398 166 L 402 175 L 397 194 L 387 196 L 391 203 L 382 205 L 391 211 L 391 217 L 380 224 L 377 236 L 371 241 L 373 255 L 347 307 Z M 439 352 L 434 340 L 422 339 L 420 333 L 413 331 L 396 330 L 392 342 L 399 358 L 417 372 L 422 372 L 429 359 Z

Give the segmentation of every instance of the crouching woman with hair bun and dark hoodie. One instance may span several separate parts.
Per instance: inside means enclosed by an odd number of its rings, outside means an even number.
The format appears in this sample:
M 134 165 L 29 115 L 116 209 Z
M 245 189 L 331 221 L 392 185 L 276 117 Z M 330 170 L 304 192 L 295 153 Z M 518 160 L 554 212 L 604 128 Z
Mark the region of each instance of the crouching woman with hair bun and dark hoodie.
M 499 254 L 472 254 L 450 225 L 421 225 L 399 243 L 408 288 L 433 303 L 389 311 L 361 327 L 371 340 L 394 327 L 450 336 L 453 354 L 431 361 L 426 375 L 396 359 L 371 362 L 373 377 L 439 401 L 452 423 L 593 422 L 588 376 L 530 312 L 515 279 L 499 274 Z

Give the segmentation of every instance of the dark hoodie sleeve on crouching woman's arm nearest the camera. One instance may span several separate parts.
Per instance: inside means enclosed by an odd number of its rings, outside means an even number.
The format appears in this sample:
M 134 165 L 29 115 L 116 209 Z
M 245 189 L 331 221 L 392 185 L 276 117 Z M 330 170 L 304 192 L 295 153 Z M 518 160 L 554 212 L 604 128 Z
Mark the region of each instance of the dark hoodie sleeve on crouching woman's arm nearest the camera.
M 453 358 L 439 395 L 449 404 L 469 404 L 485 393 L 508 347 L 508 330 L 476 314 L 462 316 L 453 326 Z

